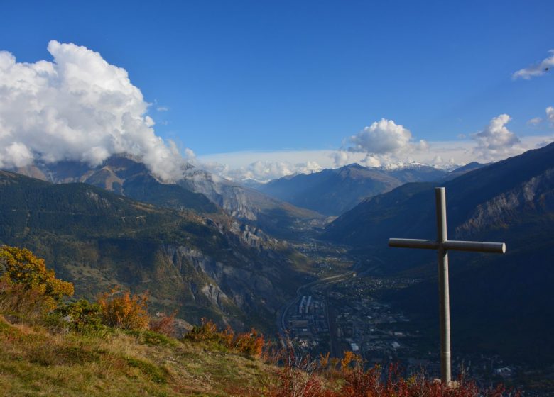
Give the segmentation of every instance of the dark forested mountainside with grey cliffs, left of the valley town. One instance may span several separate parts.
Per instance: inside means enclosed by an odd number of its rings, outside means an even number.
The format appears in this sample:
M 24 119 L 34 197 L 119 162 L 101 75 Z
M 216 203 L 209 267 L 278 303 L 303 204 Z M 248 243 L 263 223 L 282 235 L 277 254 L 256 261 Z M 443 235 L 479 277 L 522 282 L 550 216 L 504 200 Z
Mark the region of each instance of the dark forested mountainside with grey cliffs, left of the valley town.
M 0 172 L 0 244 L 44 257 L 77 296 L 122 284 L 192 323 L 205 316 L 239 328 L 271 328 L 305 265 L 287 245 L 222 214 L 11 172 Z

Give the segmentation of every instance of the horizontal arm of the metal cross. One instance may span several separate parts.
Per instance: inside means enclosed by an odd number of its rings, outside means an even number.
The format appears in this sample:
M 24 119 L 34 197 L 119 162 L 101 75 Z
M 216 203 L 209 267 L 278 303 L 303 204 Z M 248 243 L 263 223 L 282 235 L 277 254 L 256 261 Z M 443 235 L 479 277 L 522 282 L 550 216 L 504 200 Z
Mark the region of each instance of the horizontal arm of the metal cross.
M 415 238 L 390 238 L 389 247 L 438 250 L 440 244 L 438 241 L 435 240 L 418 240 Z M 442 247 L 445 250 L 456 251 L 496 252 L 498 254 L 504 254 L 504 252 L 506 252 L 506 244 L 504 244 L 504 242 L 446 240 L 445 242 L 442 242 Z

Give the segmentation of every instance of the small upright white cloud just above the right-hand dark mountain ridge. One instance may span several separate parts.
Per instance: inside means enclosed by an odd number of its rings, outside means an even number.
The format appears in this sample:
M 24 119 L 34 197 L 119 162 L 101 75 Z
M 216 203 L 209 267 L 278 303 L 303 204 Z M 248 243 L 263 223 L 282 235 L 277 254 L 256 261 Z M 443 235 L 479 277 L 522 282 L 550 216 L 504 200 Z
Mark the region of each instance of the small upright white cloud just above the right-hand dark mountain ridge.
M 501 114 L 492 118 L 484 130 L 472 135 L 477 141 L 475 151 L 484 159 L 497 160 L 521 152 L 521 140 L 506 127 L 510 120 L 510 116 Z

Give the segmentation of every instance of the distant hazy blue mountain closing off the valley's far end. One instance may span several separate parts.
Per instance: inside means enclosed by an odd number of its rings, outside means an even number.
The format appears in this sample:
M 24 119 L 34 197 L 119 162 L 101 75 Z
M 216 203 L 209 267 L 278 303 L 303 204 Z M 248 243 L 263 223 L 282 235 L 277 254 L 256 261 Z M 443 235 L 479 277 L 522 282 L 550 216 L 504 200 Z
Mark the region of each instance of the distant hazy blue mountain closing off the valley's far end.
M 338 216 L 368 196 L 391 191 L 406 182 L 436 181 L 446 174 L 425 165 L 384 169 L 350 164 L 308 175 L 283 177 L 259 184 L 256 189 L 295 206 Z

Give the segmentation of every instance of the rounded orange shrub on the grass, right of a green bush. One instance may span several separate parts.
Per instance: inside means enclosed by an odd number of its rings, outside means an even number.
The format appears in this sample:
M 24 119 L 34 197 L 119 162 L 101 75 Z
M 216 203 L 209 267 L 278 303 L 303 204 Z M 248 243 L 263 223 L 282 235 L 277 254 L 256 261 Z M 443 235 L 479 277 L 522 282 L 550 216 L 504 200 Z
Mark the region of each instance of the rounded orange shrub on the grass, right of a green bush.
M 102 323 L 124 330 L 146 330 L 148 317 L 148 294 L 131 295 L 118 287 L 98 297 L 102 309 Z

